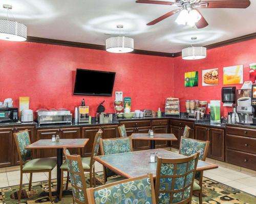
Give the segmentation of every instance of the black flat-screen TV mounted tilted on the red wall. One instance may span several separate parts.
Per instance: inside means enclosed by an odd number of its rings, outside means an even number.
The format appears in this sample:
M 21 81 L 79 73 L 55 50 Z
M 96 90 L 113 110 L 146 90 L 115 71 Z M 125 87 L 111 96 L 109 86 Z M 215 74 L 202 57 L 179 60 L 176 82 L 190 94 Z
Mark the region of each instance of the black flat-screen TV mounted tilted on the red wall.
M 112 96 L 115 72 L 76 69 L 75 95 Z

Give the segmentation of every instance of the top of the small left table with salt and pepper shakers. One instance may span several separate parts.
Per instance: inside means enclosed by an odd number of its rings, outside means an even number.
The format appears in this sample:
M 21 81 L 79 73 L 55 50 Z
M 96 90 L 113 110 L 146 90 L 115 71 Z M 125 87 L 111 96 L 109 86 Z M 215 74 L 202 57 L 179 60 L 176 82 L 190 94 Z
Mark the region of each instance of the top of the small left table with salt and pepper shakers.
M 59 142 L 52 142 L 50 139 L 38 140 L 26 149 L 57 149 L 57 148 L 79 148 L 86 146 L 89 139 L 60 139 Z

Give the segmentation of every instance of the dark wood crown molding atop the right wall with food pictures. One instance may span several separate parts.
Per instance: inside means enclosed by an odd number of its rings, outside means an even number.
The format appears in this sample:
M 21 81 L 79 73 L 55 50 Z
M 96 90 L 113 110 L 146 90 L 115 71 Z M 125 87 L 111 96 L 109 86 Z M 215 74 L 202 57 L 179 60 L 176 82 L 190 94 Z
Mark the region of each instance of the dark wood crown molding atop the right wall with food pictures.
M 256 38 L 256 33 L 251 33 L 251 34 L 240 36 L 240 37 L 237 37 L 237 38 L 232 38 L 232 39 L 224 40 L 224 41 L 217 42 L 217 43 L 214 43 L 214 44 L 209 44 L 209 45 L 206 45 L 205 47 L 207 49 L 213 49 L 213 48 L 217 48 L 217 47 L 221 47 L 221 46 L 225 46 L 225 45 L 230 45 L 230 44 L 234 44 L 234 43 L 238 43 L 238 42 L 252 40 L 252 39 L 255 39 L 255 38 Z M 174 57 L 179 57 L 179 56 L 181 56 L 181 52 L 174 54 Z

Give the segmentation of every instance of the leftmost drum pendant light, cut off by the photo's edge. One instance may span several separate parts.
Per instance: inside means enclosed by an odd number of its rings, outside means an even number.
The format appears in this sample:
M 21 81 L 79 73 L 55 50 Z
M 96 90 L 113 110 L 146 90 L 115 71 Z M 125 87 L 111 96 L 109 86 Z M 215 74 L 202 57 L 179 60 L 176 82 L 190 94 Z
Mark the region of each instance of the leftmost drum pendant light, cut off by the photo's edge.
M 0 19 L 0 39 L 9 41 L 27 40 L 26 25 L 8 19 L 8 13 L 12 6 L 4 4 L 3 8 L 7 9 L 7 19 Z

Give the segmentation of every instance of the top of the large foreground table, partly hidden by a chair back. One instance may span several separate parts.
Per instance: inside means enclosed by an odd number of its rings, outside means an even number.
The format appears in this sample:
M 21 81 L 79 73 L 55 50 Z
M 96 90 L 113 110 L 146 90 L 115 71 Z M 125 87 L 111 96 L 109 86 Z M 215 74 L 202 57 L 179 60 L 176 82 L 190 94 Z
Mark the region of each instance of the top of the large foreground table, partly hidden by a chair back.
M 151 152 L 158 152 L 158 156 L 162 158 L 179 159 L 186 157 L 165 149 L 149 149 L 115 155 L 95 156 L 94 159 L 117 174 L 127 178 L 146 175 L 147 173 L 152 173 L 155 177 L 157 163 L 149 162 Z M 197 171 L 214 168 L 218 168 L 218 165 L 201 160 L 198 161 Z

